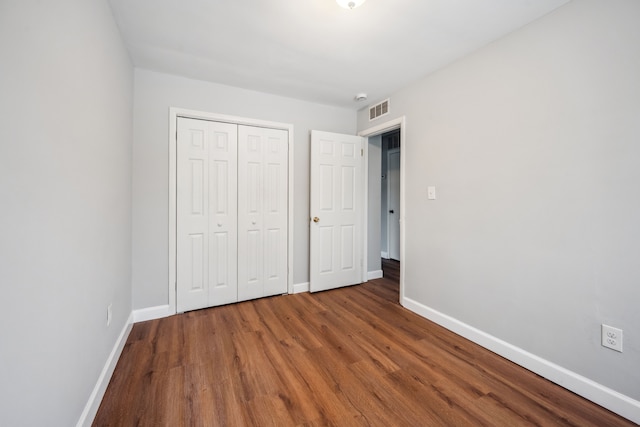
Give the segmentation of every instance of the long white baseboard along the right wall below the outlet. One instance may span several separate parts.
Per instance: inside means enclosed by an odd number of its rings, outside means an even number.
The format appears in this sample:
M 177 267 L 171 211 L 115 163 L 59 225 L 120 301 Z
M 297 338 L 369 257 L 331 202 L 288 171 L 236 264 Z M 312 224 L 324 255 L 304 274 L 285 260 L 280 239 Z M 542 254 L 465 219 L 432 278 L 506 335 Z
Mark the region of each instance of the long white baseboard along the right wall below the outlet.
M 404 298 L 402 305 L 438 325 L 491 350 L 494 353 L 532 371 L 536 374 L 584 397 L 592 402 L 640 424 L 640 401 L 618 393 L 589 378 L 558 366 L 548 360 L 529 353 L 519 347 L 502 341 L 473 326 L 451 316 L 440 313 L 410 298 Z

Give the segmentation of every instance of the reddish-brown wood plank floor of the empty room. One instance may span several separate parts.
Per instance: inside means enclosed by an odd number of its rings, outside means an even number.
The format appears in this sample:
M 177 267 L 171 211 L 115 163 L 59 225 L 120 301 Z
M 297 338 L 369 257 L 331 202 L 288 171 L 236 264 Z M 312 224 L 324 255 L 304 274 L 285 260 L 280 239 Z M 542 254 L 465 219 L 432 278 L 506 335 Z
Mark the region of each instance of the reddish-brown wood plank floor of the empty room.
M 630 426 L 370 281 L 134 325 L 96 426 Z

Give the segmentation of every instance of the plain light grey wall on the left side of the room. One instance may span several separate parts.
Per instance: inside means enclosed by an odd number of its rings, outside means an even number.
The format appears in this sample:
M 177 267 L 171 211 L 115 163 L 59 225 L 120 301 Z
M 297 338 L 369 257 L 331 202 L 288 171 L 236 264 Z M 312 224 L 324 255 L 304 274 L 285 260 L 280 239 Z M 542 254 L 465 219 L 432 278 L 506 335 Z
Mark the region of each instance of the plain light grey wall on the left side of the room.
M 131 313 L 133 69 L 103 1 L 2 1 L 0 58 L 0 425 L 71 426 Z

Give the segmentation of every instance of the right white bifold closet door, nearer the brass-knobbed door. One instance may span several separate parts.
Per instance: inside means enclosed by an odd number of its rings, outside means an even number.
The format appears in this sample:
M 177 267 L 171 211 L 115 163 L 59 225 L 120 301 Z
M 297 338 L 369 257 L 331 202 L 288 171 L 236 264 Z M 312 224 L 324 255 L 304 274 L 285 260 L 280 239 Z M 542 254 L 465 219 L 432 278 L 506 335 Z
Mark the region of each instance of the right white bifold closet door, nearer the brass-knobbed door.
M 287 292 L 288 132 L 238 127 L 238 300 Z

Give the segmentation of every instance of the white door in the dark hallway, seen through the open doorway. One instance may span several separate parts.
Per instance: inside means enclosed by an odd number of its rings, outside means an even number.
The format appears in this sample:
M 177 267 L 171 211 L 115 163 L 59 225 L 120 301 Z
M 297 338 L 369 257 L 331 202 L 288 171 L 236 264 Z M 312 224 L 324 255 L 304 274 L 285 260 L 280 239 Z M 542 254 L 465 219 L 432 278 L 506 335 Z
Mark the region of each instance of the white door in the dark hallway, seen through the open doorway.
M 400 261 L 400 150 L 387 152 L 387 245 L 389 258 Z

